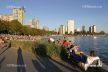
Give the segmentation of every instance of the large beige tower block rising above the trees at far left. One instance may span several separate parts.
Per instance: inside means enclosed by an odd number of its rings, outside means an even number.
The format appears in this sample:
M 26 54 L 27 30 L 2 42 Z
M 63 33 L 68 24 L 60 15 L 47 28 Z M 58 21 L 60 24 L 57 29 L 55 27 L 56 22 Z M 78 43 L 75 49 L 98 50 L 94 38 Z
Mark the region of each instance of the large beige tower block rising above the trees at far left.
M 23 24 L 25 9 L 24 7 L 13 8 L 13 18 Z

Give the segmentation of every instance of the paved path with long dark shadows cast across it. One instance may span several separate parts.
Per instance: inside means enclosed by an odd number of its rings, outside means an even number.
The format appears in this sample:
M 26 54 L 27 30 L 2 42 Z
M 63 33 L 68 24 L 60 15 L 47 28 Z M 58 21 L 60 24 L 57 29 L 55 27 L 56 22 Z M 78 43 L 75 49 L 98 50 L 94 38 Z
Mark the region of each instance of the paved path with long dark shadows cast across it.
M 0 72 L 81 72 L 76 66 L 0 46 Z

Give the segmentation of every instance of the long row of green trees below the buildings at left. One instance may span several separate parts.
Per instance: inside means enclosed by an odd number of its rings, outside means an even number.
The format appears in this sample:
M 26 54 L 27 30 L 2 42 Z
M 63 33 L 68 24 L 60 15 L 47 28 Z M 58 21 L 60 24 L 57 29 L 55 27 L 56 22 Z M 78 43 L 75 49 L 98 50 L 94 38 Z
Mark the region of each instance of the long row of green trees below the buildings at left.
M 45 31 L 40 29 L 23 26 L 19 21 L 1 21 L 0 20 L 0 33 L 4 34 L 18 34 L 18 35 L 49 35 L 56 34 L 54 31 Z

